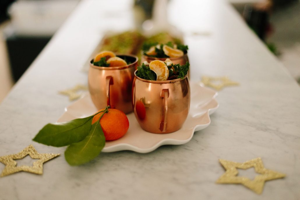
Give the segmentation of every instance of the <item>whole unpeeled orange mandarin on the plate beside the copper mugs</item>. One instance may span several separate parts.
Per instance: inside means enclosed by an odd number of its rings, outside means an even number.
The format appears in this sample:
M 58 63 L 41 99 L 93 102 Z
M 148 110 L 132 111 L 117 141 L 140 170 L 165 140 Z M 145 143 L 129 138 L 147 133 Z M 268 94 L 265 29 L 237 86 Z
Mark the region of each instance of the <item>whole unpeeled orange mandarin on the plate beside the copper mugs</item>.
M 97 122 L 103 113 L 93 117 L 92 124 Z M 118 109 L 108 109 L 100 119 L 100 125 L 103 130 L 105 140 L 117 140 L 125 135 L 129 128 L 129 121 L 126 114 Z

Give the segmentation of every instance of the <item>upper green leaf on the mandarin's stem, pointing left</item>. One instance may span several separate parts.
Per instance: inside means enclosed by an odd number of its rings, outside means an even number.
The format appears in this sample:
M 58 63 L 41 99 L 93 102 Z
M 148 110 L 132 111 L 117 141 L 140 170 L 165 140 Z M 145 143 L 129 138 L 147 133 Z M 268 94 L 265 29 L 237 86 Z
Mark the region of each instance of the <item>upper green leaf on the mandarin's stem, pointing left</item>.
M 91 128 L 94 115 L 63 123 L 49 123 L 33 138 L 33 141 L 62 147 L 83 140 Z

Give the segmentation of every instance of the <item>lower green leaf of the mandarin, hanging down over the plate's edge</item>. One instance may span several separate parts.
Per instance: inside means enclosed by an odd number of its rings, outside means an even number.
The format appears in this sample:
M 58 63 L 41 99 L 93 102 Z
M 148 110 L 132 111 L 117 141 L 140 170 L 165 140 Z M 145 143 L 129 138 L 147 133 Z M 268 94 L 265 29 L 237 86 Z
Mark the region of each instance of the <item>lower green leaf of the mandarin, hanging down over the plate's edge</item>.
M 70 165 L 82 165 L 99 155 L 105 145 L 105 136 L 99 121 L 92 124 L 86 138 L 71 144 L 64 152 L 64 157 Z

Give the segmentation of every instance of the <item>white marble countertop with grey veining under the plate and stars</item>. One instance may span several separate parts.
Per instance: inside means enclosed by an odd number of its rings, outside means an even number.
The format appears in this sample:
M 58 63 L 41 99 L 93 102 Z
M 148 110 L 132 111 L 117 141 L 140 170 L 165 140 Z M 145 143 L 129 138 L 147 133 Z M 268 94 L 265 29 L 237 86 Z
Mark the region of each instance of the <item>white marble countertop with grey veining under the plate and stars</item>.
M 44 164 L 43 175 L 1 177 L 0 199 L 300 199 L 300 88 L 223 1 L 170 1 L 170 23 L 176 22 L 189 46 L 191 80 L 226 75 L 240 83 L 219 91 L 220 106 L 210 126 L 195 132 L 188 143 L 146 154 L 101 153 L 72 167 L 64 160 L 64 147 L 32 141 L 72 103 L 58 91 L 87 84 L 81 68 L 103 30 L 134 27 L 131 5 L 107 2 L 82 1 L 1 103 L 0 156 L 29 144 L 39 153 L 61 156 Z M 105 16 L 116 9 L 118 14 Z M 172 14 L 180 12 L 184 15 Z M 267 181 L 261 195 L 242 185 L 215 183 L 224 173 L 218 159 L 257 157 L 265 168 L 286 177 Z

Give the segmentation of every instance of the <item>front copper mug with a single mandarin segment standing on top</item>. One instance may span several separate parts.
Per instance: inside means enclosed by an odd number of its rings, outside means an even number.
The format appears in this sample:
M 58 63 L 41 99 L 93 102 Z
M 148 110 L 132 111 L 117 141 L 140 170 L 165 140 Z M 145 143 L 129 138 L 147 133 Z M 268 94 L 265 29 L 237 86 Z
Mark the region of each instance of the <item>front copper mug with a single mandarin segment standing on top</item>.
M 132 107 L 142 127 L 151 133 L 179 130 L 190 108 L 190 84 L 181 79 L 153 81 L 135 75 L 132 84 Z

